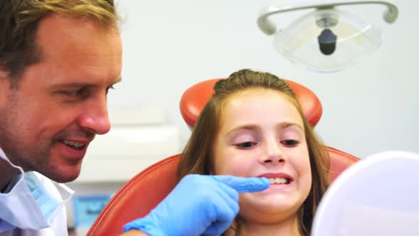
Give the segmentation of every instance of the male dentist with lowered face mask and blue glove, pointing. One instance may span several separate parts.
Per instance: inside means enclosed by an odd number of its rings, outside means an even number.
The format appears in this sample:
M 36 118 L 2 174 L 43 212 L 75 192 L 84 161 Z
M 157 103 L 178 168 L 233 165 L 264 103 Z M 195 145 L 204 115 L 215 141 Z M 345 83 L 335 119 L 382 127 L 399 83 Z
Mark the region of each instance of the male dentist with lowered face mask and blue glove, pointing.
M 67 235 L 72 191 L 59 184 L 61 195 L 51 180 L 75 180 L 89 143 L 109 132 L 107 93 L 122 66 L 114 1 L 1 0 L 0 16 L 0 235 Z M 187 176 L 126 231 L 217 235 L 234 220 L 239 192 L 268 185 Z

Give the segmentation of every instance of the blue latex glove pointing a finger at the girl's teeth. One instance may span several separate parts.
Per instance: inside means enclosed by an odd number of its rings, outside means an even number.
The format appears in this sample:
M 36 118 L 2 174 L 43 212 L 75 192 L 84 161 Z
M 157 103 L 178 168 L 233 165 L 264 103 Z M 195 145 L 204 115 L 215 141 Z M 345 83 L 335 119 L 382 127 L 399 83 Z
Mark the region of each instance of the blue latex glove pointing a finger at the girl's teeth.
M 263 191 L 269 184 L 267 178 L 187 175 L 151 213 L 126 224 L 124 232 L 221 235 L 239 213 L 239 193 Z

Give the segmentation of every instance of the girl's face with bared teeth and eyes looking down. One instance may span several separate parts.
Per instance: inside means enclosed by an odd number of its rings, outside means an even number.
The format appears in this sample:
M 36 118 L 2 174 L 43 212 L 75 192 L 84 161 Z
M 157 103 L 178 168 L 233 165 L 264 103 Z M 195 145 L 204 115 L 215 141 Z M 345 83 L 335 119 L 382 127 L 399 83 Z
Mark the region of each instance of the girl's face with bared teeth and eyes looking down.
M 244 90 L 222 109 L 214 173 L 271 181 L 265 191 L 240 194 L 239 215 L 248 222 L 295 220 L 310 192 L 303 119 L 285 96 L 275 90 Z

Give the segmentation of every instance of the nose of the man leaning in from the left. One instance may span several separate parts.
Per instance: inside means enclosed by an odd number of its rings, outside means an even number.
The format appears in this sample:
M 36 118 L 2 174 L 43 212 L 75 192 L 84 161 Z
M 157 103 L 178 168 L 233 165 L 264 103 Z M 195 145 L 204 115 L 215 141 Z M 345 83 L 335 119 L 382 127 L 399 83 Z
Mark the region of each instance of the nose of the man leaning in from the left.
M 79 117 L 79 124 L 94 134 L 106 134 L 111 129 L 106 97 L 91 100 Z

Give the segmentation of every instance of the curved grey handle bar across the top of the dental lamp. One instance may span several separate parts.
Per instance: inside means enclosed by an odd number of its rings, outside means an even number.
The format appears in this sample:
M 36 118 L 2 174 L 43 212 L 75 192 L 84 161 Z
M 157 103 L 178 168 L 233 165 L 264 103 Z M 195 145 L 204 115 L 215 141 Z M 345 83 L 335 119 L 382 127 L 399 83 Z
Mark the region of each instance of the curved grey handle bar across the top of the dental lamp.
M 295 10 L 302 10 L 302 9 L 327 9 L 332 8 L 334 6 L 342 6 L 342 5 L 354 5 L 354 4 L 382 4 L 387 6 L 386 11 L 384 11 L 383 19 L 387 23 L 393 23 L 396 21 L 398 16 L 398 9 L 397 6 L 392 4 L 390 1 L 379 1 L 379 0 L 370 0 L 370 1 L 356 1 L 356 0 L 334 0 L 325 3 L 322 0 L 317 0 L 317 2 L 310 1 L 307 5 L 304 5 L 302 1 L 293 1 L 293 4 L 299 3 L 298 5 L 294 6 L 281 6 L 280 8 L 276 6 L 269 6 L 267 9 L 263 10 L 261 15 L 258 18 L 258 26 L 267 35 L 272 35 L 276 32 L 275 24 L 268 19 L 268 16 L 273 14 L 279 14 L 286 11 L 295 11 Z

